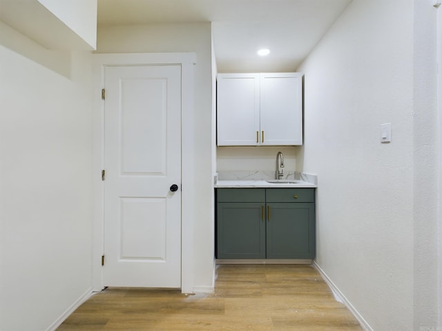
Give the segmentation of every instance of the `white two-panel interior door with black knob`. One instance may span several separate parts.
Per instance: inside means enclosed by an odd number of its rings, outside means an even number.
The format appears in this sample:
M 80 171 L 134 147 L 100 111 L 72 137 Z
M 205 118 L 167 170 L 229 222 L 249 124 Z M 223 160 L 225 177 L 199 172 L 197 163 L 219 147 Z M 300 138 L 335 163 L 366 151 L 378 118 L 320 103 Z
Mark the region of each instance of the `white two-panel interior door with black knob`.
M 104 86 L 104 285 L 180 288 L 181 67 L 107 66 Z

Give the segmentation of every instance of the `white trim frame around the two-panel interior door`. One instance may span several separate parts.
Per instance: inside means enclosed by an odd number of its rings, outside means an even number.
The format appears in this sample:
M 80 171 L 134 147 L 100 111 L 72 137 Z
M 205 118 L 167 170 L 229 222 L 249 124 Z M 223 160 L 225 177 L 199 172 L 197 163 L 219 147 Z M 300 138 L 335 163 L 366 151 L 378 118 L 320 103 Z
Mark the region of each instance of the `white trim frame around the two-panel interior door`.
M 102 255 L 104 254 L 104 69 L 106 66 L 181 66 L 181 290 L 193 292 L 193 215 L 195 194 L 193 190 L 193 105 L 194 70 L 196 54 L 177 53 L 114 53 L 93 54 L 93 247 L 92 285 L 93 291 L 104 288 Z

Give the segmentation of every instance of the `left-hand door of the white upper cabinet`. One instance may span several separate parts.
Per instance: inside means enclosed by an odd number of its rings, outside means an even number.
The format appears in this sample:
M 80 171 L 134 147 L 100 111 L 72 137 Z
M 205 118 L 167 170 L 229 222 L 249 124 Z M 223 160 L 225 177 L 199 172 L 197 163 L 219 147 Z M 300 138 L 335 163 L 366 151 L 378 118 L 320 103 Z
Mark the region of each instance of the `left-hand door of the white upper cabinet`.
M 218 146 L 256 146 L 260 130 L 259 74 L 218 74 Z

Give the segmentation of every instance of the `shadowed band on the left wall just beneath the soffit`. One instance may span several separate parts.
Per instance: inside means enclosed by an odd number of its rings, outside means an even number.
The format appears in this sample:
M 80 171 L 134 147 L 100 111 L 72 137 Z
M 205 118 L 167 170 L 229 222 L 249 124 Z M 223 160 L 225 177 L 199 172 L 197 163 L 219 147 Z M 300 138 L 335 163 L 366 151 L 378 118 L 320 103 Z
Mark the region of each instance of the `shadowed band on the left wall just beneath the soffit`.
M 71 77 L 70 51 L 48 50 L 1 21 L 0 45 L 68 79 Z

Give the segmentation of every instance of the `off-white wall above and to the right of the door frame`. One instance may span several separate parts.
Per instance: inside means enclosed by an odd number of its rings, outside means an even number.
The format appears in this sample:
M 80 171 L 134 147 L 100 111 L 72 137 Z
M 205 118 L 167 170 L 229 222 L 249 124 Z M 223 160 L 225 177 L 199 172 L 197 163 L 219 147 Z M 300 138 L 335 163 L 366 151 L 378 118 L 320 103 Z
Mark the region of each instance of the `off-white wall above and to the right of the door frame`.
M 211 24 L 101 26 L 97 52 L 195 52 L 194 288 L 213 287 L 213 179 Z M 185 116 L 185 114 L 184 114 Z

